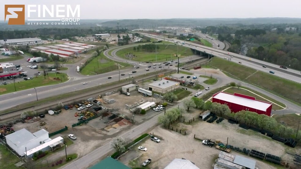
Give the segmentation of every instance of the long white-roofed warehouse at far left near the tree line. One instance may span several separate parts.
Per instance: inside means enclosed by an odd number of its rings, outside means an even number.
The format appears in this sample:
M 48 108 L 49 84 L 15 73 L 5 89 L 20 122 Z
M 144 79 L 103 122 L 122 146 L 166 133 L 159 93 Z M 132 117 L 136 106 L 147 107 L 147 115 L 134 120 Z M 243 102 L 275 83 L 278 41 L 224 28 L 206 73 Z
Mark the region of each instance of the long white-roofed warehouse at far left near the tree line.
M 23 39 L 4 39 L 0 40 L 1 45 L 40 45 L 43 44 L 40 38 L 23 38 Z

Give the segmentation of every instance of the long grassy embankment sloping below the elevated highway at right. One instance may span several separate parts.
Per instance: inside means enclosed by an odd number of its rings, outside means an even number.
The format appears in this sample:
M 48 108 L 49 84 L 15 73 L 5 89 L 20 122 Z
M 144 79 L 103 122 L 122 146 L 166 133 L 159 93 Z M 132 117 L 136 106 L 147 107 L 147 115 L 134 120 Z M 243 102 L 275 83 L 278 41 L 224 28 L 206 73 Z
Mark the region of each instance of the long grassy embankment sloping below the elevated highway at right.
M 212 60 L 212 66 L 225 71 L 224 73 L 229 77 L 258 85 L 301 105 L 301 95 L 298 94 L 301 93 L 301 84 L 299 83 L 216 57 Z

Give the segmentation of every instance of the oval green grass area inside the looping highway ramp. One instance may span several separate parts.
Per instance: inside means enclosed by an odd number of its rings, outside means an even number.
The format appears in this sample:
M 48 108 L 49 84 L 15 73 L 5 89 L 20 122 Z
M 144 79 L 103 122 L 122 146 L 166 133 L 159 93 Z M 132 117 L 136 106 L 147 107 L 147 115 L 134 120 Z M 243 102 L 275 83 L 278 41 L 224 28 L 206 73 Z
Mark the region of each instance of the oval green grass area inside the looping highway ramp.
M 178 55 L 180 57 L 184 56 L 191 56 L 194 55 L 191 49 L 181 46 L 181 45 L 163 45 L 163 44 L 158 44 L 158 49 L 157 49 L 157 62 L 163 62 L 167 60 L 175 60 L 177 59 L 177 51 Z M 155 52 L 135 52 L 133 50 L 133 47 L 121 49 L 116 52 L 116 55 L 124 58 L 124 59 L 129 59 L 128 56 L 126 56 L 126 53 L 132 53 L 133 55 L 137 57 L 132 57 L 131 60 L 133 61 L 138 61 L 138 62 L 155 62 L 156 61 L 156 53 Z

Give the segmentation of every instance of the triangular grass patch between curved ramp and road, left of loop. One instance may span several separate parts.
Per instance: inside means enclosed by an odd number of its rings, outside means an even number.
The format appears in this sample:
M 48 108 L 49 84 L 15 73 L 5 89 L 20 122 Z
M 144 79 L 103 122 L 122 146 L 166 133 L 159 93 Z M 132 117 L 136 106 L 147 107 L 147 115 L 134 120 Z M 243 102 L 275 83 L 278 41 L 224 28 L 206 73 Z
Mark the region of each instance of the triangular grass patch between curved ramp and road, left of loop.
M 102 52 L 98 57 L 92 59 L 91 62 L 88 63 L 80 72 L 84 75 L 95 75 L 95 73 L 102 74 L 113 70 L 118 70 L 118 65 L 121 69 L 131 67 L 131 65 L 128 63 L 116 62 L 107 58 Z

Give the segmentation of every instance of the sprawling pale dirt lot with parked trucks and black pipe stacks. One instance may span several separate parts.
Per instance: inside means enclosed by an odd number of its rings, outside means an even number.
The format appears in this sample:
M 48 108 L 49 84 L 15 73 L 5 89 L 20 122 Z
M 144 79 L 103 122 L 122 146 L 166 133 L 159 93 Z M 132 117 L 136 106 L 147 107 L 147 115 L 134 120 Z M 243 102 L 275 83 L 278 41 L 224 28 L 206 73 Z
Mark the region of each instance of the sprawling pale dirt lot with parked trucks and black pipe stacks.
M 195 112 L 195 114 L 197 113 L 198 112 Z M 182 135 L 176 131 L 164 129 L 161 126 L 158 126 L 149 132 L 154 132 L 154 135 L 158 136 L 162 140 L 160 143 L 147 139 L 134 147 L 132 151 L 135 152 L 130 152 L 124 157 L 121 157 L 121 161 L 126 163 L 127 160 L 133 160 L 135 157 L 143 154 L 140 158 L 138 158 L 136 166 L 140 166 L 144 160 L 151 158 L 152 163 L 148 167 L 153 169 L 164 168 L 174 158 L 185 158 L 194 162 L 195 165 L 200 168 L 211 168 L 211 165 L 217 158 L 220 150 L 210 148 L 209 146 L 203 146 L 200 141 L 193 138 L 194 134 L 201 139 L 211 139 L 212 141 L 219 140 L 224 143 L 227 142 L 227 137 L 229 137 L 230 145 L 240 147 L 241 149 L 256 149 L 264 153 L 280 156 L 283 160 L 291 164 L 293 163 L 292 156 L 285 154 L 285 151 L 301 153 L 301 149 L 297 147 L 290 148 L 285 146 L 283 143 L 274 141 L 258 132 L 247 131 L 238 127 L 238 125 L 230 124 L 226 120 L 220 124 L 195 121 L 192 125 L 186 125 L 183 123 L 177 125 L 179 127 L 186 128 L 190 134 Z M 145 146 L 148 150 L 146 152 L 138 151 L 137 147 L 140 145 Z M 206 158 L 200 158 L 204 156 L 204 154 L 206 154 Z M 232 151 L 231 154 L 244 156 L 234 151 Z M 251 156 L 246 157 L 256 160 L 256 165 L 259 168 L 276 168 L 275 166 L 266 164 L 265 162 Z

